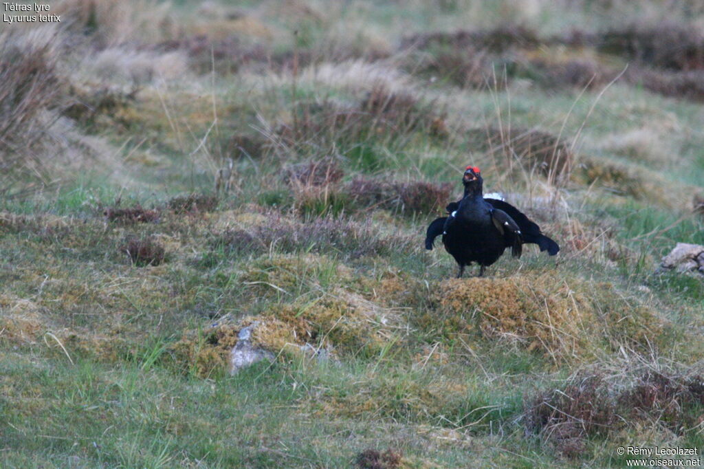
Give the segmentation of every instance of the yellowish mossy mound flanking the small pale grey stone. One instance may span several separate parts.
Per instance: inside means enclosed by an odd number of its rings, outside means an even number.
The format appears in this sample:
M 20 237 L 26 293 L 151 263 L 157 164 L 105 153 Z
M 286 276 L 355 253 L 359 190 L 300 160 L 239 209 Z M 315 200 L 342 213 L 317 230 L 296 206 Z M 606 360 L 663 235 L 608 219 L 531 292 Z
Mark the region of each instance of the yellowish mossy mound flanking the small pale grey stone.
M 396 318 L 387 310 L 337 289 L 313 301 L 274 304 L 237 324 L 191 331 L 168 349 L 172 365 L 206 377 L 227 369 L 237 334 L 252 327 L 251 342 L 282 361 L 327 350 L 334 354 L 374 356 L 396 341 Z

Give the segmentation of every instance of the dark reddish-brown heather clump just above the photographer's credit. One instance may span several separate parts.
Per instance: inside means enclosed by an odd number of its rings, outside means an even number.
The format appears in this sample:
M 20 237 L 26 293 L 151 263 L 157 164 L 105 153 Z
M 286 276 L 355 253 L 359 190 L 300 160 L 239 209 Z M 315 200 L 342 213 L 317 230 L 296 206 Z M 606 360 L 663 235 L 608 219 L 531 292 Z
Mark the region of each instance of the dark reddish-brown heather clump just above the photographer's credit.
M 575 458 L 584 454 L 588 439 L 641 423 L 677 434 L 696 431 L 703 389 L 699 375 L 677 370 L 636 366 L 609 377 L 581 370 L 561 389 L 530 402 L 526 425 L 561 454 Z

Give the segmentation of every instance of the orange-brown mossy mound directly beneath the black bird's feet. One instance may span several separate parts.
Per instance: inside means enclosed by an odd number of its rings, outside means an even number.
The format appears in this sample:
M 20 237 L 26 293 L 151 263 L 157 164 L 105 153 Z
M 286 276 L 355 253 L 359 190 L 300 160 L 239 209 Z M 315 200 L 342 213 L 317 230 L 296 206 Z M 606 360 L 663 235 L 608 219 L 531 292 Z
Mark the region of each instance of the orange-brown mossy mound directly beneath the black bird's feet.
M 555 361 L 589 357 L 604 346 L 660 344 L 667 321 L 612 284 L 557 271 L 446 280 L 436 311 L 417 324 L 444 339 L 508 339 Z

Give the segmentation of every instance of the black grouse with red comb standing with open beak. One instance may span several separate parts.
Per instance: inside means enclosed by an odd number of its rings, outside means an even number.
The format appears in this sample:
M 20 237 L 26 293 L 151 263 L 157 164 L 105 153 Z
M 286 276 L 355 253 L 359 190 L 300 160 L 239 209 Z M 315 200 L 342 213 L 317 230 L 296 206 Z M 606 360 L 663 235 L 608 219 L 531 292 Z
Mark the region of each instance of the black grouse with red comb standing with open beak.
M 425 237 L 425 248 L 433 249 L 435 238 L 443 235 L 445 250 L 460 265 L 458 278 L 472 262 L 479 264 L 482 277 L 486 266 L 495 263 L 507 247 L 514 257 L 521 256 L 522 245 L 527 243 L 537 244 L 551 256 L 558 254 L 560 246 L 517 208 L 498 199 L 484 199 L 479 168 L 467 166 L 462 182 L 463 198 L 448 204 L 450 215 L 434 220 Z

